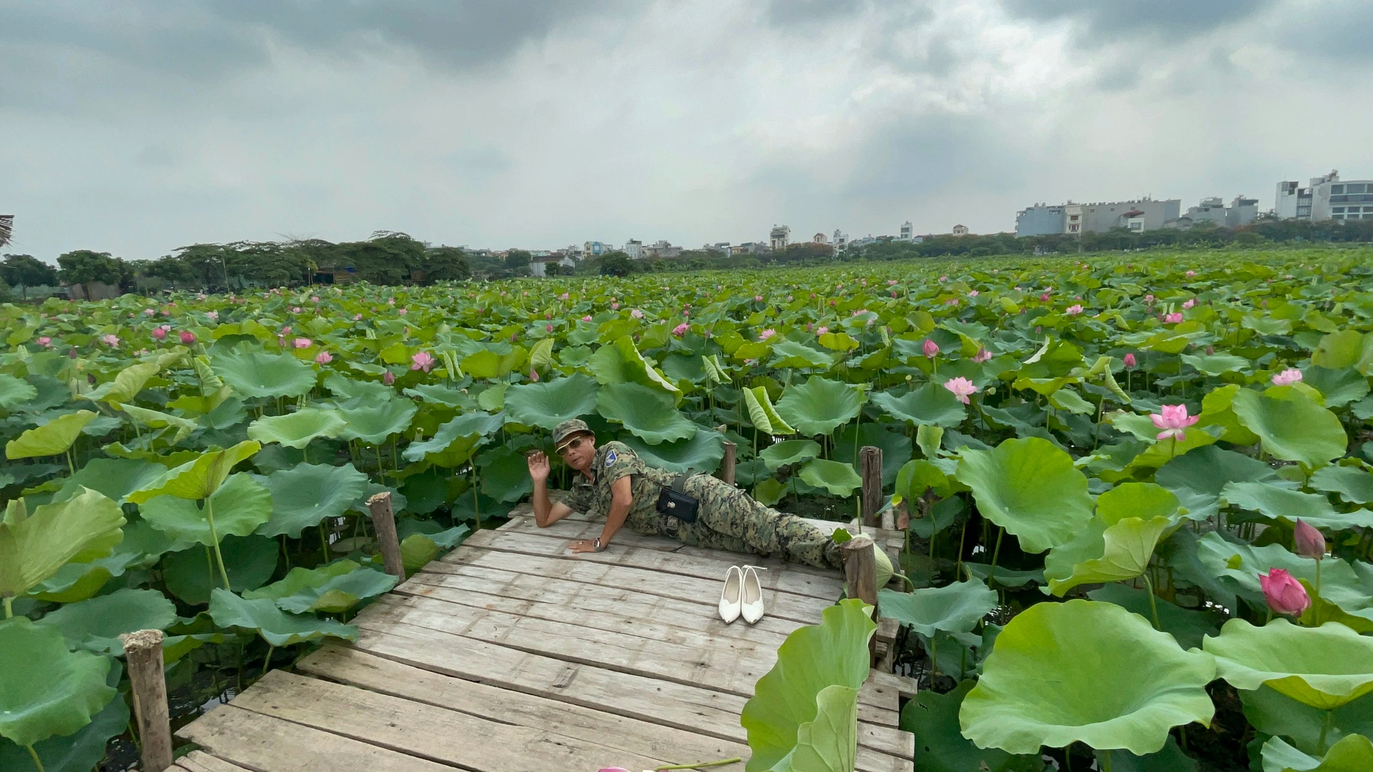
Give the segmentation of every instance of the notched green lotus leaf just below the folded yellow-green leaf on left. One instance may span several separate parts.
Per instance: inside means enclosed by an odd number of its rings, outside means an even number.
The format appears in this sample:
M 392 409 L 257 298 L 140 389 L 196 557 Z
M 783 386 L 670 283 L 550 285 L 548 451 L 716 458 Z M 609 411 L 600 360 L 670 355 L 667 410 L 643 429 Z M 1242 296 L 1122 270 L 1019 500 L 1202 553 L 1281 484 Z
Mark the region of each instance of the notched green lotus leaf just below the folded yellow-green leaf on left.
M 140 512 L 148 525 L 172 538 L 214 547 L 217 538 L 247 536 L 265 523 L 272 516 L 272 493 L 253 475 L 239 473 L 229 475 L 205 501 L 157 496 Z

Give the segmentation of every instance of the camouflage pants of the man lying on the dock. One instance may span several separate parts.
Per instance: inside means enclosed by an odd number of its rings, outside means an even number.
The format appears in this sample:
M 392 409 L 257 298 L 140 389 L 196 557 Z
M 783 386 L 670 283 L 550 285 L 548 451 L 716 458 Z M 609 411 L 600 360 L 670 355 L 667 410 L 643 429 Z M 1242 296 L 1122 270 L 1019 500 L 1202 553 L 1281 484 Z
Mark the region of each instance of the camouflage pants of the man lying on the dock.
M 843 567 L 839 545 L 806 521 L 759 504 L 748 493 L 710 475 L 686 479 L 684 490 L 700 500 L 696 522 L 658 515 L 658 532 L 692 547 L 777 554 L 821 569 Z

